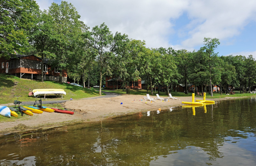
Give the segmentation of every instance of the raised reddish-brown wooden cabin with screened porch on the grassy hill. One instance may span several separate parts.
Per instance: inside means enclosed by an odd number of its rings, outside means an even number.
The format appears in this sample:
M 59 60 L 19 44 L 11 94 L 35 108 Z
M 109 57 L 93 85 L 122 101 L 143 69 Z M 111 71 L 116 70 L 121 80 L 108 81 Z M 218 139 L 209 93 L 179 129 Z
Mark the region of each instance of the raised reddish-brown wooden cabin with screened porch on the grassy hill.
M 60 72 L 44 60 L 44 80 L 59 81 Z M 0 57 L 0 73 L 15 75 L 25 79 L 41 79 L 42 60 L 34 55 L 12 55 L 10 59 Z M 62 70 L 62 82 L 67 82 L 67 71 Z

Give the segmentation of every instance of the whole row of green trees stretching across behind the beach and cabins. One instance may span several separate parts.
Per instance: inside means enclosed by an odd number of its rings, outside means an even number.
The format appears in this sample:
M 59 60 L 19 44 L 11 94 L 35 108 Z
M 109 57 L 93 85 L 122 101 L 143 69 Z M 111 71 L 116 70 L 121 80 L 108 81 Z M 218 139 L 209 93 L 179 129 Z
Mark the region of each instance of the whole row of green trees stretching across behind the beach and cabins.
M 165 87 L 166 94 L 177 84 L 200 86 L 200 91 L 218 84 L 247 92 L 256 81 L 256 62 L 250 55 L 219 56 L 219 39 L 204 38 L 198 51 L 172 48 L 147 48 L 145 41 L 129 39 L 127 34 L 113 34 L 105 23 L 90 29 L 79 20 L 76 8 L 66 1 L 52 3 L 41 11 L 33 0 L 3 0 L 0 4 L 0 57 L 18 54 L 50 59 L 51 65 L 68 71 L 68 77 L 91 85 L 101 84 L 105 76 L 122 80 L 129 93 L 129 82 L 144 80 L 151 90 Z M 136 28 L 136 27 L 134 27 Z M 42 81 L 44 81 L 42 70 Z M 60 81 L 61 81 L 60 77 Z M 159 91 L 160 88 L 158 88 Z M 249 88 L 249 92 L 251 92 Z M 187 93 L 187 91 L 185 91 Z M 222 93 L 222 91 L 220 91 Z

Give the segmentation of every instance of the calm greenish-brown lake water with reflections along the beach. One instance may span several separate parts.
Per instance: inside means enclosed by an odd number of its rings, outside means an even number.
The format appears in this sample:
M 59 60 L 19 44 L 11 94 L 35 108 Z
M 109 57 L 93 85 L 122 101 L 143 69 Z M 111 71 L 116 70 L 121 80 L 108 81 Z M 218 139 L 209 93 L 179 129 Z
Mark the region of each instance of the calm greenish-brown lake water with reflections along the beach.
M 0 165 L 256 165 L 256 98 L 0 137 Z

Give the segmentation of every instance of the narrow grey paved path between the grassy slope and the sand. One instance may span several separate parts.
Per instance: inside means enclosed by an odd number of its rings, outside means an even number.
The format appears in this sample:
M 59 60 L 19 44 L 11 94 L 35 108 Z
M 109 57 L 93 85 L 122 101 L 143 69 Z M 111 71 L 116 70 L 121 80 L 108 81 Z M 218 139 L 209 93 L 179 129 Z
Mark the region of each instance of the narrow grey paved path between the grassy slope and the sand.
M 103 92 L 106 95 L 102 95 L 102 96 L 97 96 L 97 97 L 88 97 L 88 98 L 84 98 L 85 100 L 91 100 L 91 99 L 98 99 L 98 98 L 109 98 L 109 97 L 116 97 L 116 96 L 120 96 L 122 94 L 117 94 L 117 93 L 111 93 L 111 92 Z M 78 99 L 81 100 L 81 99 Z M 50 100 L 50 101 L 42 101 L 42 104 L 54 104 L 54 103 L 62 103 L 62 102 L 66 102 L 69 100 Z M 20 105 L 33 105 L 35 102 L 22 102 L 20 103 Z M 13 103 L 10 104 L 1 104 L 1 105 L 13 105 Z

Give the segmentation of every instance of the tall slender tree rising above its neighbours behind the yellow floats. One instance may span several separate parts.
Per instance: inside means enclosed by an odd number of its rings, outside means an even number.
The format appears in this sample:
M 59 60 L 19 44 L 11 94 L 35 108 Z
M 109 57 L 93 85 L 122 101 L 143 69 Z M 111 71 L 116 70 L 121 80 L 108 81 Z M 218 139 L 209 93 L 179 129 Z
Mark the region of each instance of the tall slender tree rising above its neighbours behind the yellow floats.
M 217 49 L 218 45 L 220 45 L 220 41 L 217 38 L 204 38 L 204 47 L 201 47 L 200 50 L 205 51 L 205 54 L 207 55 L 206 57 L 206 62 L 207 62 L 207 67 L 209 70 L 209 77 L 210 77 L 210 87 L 212 87 L 212 70 L 215 66 L 218 64 L 216 61 L 214 61 L 215 57 L 218 56 L 218 53 L 214 53 L 214 50 Z M 212 95 L 212 88 L 211 89 L 211 96 Z

